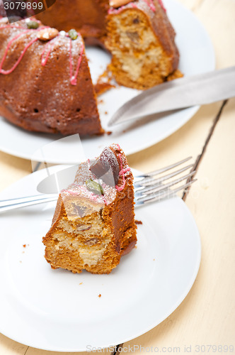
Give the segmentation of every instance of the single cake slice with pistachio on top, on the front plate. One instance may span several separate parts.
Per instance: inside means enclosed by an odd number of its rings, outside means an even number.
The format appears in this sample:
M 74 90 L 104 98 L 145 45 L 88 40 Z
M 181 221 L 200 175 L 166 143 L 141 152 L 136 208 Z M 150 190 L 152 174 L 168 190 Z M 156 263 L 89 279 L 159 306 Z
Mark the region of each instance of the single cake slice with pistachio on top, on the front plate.
M 113 144 L 81 163 L 74 183 L 60 192 L 43 238 L 45 258 L 52 268 L 73 273 L 110 273 L 136 242 L 133 176 Z

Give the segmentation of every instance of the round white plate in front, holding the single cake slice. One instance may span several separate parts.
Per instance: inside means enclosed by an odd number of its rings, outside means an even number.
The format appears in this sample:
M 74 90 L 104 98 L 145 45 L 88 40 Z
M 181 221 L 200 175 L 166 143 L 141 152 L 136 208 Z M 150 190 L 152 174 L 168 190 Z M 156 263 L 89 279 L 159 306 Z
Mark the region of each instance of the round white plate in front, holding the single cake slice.
M 35 195 L 43 178 L 43 170 L 28 175 L 0 199 Z M 54 210 L 53 203 L 38 204 L 0 215 L 0 332 L 7 337 L 52 351 L 121 344 L 162 322 L 188 294 L 201 247 L 195 221 L 180 198 L 136 210 L 143 222 L 137 249 L 110 275 L 50 268 L 42 236 Z

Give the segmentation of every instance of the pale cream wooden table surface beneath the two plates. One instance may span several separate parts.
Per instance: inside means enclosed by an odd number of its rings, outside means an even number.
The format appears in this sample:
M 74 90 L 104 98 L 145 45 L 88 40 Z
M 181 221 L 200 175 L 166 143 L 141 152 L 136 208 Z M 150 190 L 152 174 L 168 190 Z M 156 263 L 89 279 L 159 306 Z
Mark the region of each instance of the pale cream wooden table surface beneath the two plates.
M 207 28 L 214 44 L 217 68 L 235 65 L 235 0 L 180 2 Z M 217 354 L 221 352 L 219 345 L 234 345 L 235 353 L 234 152 L 235 99 L 229 99 L 202 107 L 172 136 L 129 156 L 130 166 L 143 171 L 193 156 L 197 182 L 191 187 L 185 203 L 200 230 L 202 261 L 193 288 L 175 312 L 151 331 L 123 344 L 123 352 L 141 354 L 144 350 L 151 352 L 151 347 L 156 351 L 157 347 L 159 352 L 166 354 L 183 353 L 188 346 L 188 352 L 197 354 L 197 350 L 199 353 L 204 350 L 197 346 L 216 345 Z M 0 172 L 0 190 L 4 190 L 31 173 L 31 163 L 0 152 Z M 208 349 L 206 347 L 205 352 Z M 33 349 L 0 334 L 0 355 L 13 354 L 69 353 Z

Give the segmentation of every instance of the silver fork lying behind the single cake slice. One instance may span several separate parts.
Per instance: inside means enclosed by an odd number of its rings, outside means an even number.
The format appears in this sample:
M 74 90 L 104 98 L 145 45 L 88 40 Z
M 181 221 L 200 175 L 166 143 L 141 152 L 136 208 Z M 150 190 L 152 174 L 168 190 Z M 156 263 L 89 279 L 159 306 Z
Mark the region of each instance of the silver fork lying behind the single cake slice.
M 167 182 L 171 178 L 174 178 L 176 175 L 193 168 L 193 164 L 187 165 L 183 168 L 180 168 L 172 173 L 168 173 L 163 176 L 159 176 L 162 173 L 168 172 L 173 168 L 178 168 L 179 165 L 183 165 L 183 163 L 190 160 L 192 157 L 185 158 L 183 160 L 178 161 L 178 163 L 174 163 L 172 165 L 168 165 L 165 168 L 161 168 L 159 170 L 152 171 L 147 174 L 137 175 L 134 177 L 134 202 L 135 207 L 141 206 L 143 204 L 147 204 L 149 202 L 156 202 L 168 197 L 172 197 L 176 195 L 176 192 L 180 190 L 186 190 L 196 179 L 193 180 L 193 175 L 195 175 L 195 170 L 190 171 L 190 173 L 186 173 L 180 178 Z M 176 187 L 175 189 L 171 189 L 173 185 L 177 185 L 180 182 L 183 182 L 183 185 Z M 166 183 L 164 183 L 166 182 Z M 56 201 L 58 198 L 58 194 L 40 194 L 35 196 L 28 197 L 18 197 L 12 200 L 0 200 L 0 212 L 6 212 L 10 209 L 16 209 L 20 207 L 31 206 L 33 204 L 40 204 L 45 202 Z

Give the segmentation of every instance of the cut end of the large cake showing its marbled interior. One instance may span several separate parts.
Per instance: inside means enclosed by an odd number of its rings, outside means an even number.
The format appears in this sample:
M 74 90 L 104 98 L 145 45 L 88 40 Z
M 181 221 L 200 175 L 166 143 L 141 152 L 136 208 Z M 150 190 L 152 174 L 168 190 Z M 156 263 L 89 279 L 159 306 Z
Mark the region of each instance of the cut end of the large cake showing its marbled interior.
M 105 45 L 113 54 L 110 70 L 119 84 L 149 89 L 177 69 L 175 33 L 158 1 L 154 14 L 144 1 L 134 9 L 125 6 L 111 13 L 107 28 Z M 178 76 L 182 74 L 178 72 Z

